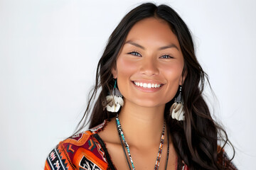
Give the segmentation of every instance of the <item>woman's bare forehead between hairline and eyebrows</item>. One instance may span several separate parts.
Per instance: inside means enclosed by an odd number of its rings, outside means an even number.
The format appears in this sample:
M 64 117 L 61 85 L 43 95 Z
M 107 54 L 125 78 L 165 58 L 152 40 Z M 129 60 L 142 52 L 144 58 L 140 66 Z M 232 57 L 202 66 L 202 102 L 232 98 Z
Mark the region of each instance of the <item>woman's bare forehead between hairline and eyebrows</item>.
M 127 35 L 127 40 L 149 43 L 149 45 L 166 45 L 174 43 L 179 47 L 178 39 L 169 23 L 159 18 L 146 18 L 137 22 Z

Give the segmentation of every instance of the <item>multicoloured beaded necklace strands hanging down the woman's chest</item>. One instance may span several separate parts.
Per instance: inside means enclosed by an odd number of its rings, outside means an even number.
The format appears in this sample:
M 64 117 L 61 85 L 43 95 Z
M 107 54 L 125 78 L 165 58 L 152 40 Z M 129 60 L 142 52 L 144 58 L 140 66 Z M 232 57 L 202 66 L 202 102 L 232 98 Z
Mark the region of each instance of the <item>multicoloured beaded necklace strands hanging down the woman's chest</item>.
M 129 150 L 129 145 L 127 144 L 127 142 L 126 142 L 126 140 L 124 138 L 124 132 L 122 132 L 122 126 L 121 126 L 121 123 L 119 121 L 118 114 L 116 116 L 116 123 L 117 123 L 117 131 L 118 131 L 119 139 L 120 139 L 120 142 L 122 143 L 122 148 L 124 150 L 125 158 L 127 160 L 127 164 L 129 166 L 129 169 L 130 170 L 135 170 L 134 163 L 132 161 L 132 155 L 131 155 L 130 150 Z M 160 159 L 161 159 L 161 152 L 162 152 L 162 149 L 163 149 L 163 146 L 164 146 L 165 125 L 166 125 L 166 123 L 164 122 L 164 127 L 163 127 L 163 130 L 161 132 L 161 140 L 160 140 L 160 145 L 159 145 L 159 152 L 157 153 L 156 164 L 154 166 L 154 170 L 158 170 L 159 169 L 159 163 L 160 163 Z M 168 138 L 169 138 L 169 135 L 168 135 Z M 127 154 L 125 152 L 124 147 L 126 147 L 126 149 L 127 149 L 129 160 L 127 158 Z M 167 149 L 167 157 L 166 157 L 166 167 L 165 167 L 165 169 L 167 169 L 168 159 L 169 159 L 169 139 L 168 139 L 168 149 Z M 132 164 L 132 168 L 131 168 L 131 166 L 129 164 L 129 161 Z

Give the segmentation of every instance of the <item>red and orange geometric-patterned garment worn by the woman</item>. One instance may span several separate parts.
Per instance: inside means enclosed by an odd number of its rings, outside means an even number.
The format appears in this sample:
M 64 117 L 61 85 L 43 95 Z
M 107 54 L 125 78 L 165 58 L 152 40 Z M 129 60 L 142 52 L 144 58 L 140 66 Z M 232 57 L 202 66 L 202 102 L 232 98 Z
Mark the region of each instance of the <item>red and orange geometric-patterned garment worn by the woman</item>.
M 116 170 L 105 143 L 97 135 L 106 124 L 105 120 L 95 128 L 60 142 L 48 154 L 45 170 Z M 226 159 L 228 157 L 223 152 L 219 161 L 226 164 Z M 181 160 L 177 159 L 176 162 L 177 170 L 188 170 L 188 166 L 182 164 Z M 235 166 L 232 170 L 236 170 Z

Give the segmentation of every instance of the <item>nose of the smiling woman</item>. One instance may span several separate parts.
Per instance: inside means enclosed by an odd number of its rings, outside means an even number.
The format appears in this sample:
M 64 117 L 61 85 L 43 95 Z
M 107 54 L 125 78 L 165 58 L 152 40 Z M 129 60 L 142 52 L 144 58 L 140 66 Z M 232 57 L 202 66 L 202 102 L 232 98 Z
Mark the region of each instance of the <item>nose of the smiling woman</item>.
M 140 68 L 140 72 L 150 77 L 159 74 L 157 61 L 152 58 L 145 57 L 144 60 L 142 60 L 142 67 Z

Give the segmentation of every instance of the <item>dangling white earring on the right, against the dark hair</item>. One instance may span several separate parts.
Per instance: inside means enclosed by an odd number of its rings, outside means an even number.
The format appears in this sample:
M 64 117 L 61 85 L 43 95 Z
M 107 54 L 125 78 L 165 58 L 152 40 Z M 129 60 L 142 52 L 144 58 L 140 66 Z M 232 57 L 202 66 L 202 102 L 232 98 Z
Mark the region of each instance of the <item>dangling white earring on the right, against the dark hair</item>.
M 170 108 L 170 115 L 171 115 L 171 118 L 176 119 L 178 121 L 185 120 L 185 111 L 183 109 L 183 101 L 181 96 L 181 86 L 180 86 L 180 93 L 175 98 L 175 101 Z

